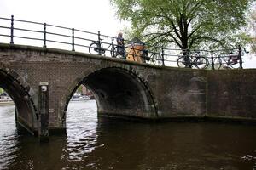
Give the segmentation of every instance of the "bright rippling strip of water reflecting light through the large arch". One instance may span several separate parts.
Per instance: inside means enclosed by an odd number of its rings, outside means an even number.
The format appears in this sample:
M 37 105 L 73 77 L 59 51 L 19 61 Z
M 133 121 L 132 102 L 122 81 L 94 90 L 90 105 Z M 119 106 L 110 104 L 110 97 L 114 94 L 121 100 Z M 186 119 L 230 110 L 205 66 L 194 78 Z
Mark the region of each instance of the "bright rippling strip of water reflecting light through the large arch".
M 90 108 L 81 103 L 73 103 L 67 109 L 67 154 L 68 161 L 82 161 L 97 146 L 96 102 L 89 102 Z M 94 108 L 94 109 L 92 109 Z M 73 116 L 78 114 L 79 116 Z

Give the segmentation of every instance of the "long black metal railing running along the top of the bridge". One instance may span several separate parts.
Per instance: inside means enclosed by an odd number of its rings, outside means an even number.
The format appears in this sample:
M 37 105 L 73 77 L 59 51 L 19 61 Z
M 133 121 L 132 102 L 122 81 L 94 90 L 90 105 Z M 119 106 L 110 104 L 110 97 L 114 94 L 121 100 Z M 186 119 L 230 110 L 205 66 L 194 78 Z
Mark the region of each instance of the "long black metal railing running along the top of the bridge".
M 186 50 L 150 46 L 145 43 L 125 40 L 125 46 L 119 47 L 116 37 L 102 35 L 100 31 L 90 32 L 64 26 L 55 26 L 27 20 L 0 17 L 0 42 L 14 44 L 32 44 L 43 48 L 63 48 L 107 57 L 127 59 L 160 66 L 179 66 L 186 68 L 212 69 L 236 67 L 242 68 L 242 55 L 246 52 L 240 46 L 221 50 Z M 28 28 L 27 28 L 28 27 Z M 5 39 L 4 39 L 5 37 Z M 20 40 L 20 42 L 19 42 Z M 108 48 L 104 47 L 108 46 Z M 117 48 L 125 48 L 118 55 Z M 243 50 L 244 49 L 244 50 Z M 247 52 L 246 52 L 247 53 Z M 235 59 L 236 58 L 236 59 Z

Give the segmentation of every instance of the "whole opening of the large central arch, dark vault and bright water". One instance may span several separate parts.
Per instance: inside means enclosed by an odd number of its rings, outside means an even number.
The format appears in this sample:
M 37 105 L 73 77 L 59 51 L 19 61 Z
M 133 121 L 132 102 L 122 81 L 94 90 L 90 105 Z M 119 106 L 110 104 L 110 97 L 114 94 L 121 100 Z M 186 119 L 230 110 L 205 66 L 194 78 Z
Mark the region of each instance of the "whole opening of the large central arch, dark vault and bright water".
M 92 102 L 85 104 L 73 101 L 73 96 L 81 93 L 79 92 L 81 86 L 90 90 L 90 95 L 95 99 L 93 101 L 94 104 Z M 146 82 L 143 82 L 137 74 L 131 71 L 118 67 L 104 68 L 81 78 L 81 81 L 76 83 L 75 88 L 71 89 L 69 94 L 67 92 L 68 96 L 62 115 L 62 127 L 66 130 L 68 128 L 68 132 L 75 130 L 74 127 L 79 128 L 80 122 L 91 121 L 94 123 L 96 114 L 97 116 L 125 119 L 158 118 L 154 96 L 151 94 L 150 88 L 148 88 Z M 91 117 L 88 118 L 87 116 L 93 116 L 94 118 L 91 119 Z M 78 118 L 79 122 L 75 122 L 78 121 L 76 120 Z M 66 133 L 68 132 L 66 131 Z

